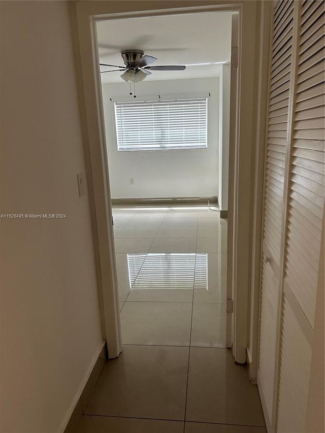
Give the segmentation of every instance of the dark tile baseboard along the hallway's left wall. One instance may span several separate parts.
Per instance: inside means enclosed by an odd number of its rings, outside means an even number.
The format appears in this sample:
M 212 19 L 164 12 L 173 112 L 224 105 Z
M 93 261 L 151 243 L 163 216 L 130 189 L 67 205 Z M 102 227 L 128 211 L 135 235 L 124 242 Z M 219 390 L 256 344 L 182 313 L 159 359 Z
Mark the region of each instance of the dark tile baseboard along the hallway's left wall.
M 84 385 L 82 386 L 79 396 L 77 398 L 77 403 L 74 405 L 71 416 L 68 422 L 65 424 L 66 427 L 62 429 L 63 433 L 75 433 L 77 431 L 79 422 L 82 415 L 85 413 L 86 407 L 89 403 L 92 391 L 102 373 L 104 364 L 107 357 L 106 342 L 100 348 L 99 354 L 95 357 L 92 367 L 86 376 Z

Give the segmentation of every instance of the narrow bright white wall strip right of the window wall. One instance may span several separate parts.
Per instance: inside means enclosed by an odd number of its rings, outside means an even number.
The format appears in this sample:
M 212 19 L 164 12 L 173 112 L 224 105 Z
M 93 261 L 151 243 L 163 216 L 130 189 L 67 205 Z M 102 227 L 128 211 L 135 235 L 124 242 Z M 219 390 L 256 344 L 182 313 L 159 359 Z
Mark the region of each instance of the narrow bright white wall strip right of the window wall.
M 222 65 L 219 77 L 219 194 L 220 209 L 228 210 L 230 63 Z

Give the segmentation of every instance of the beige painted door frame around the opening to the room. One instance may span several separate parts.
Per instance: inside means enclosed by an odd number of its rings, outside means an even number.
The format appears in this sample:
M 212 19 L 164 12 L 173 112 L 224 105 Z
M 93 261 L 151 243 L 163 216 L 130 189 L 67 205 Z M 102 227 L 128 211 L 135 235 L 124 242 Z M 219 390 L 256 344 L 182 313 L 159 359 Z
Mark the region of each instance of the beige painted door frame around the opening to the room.
M 184 7 L 184 5 L 189 5 Z M 194 4 L 194 6 L 193 6 Z M 239 12 L 239 68 L 238 68 L 238 109 L 234 143 L 230 143 L 230 169 L 234 164 L 235 177 L 229 176 L 230 189 L 235 192 L 234 202 L 229 203 L 229 215 L 240 215 L 233 221 L 229 232 L 228 257 L 233 263 L 233 355 L 239 363 L 246 362 L 248 331 L 248 306 L 250 286 L 251 215 L 252 215 L 252 143 L 254 142 L 253 122 L 256 106 L 256 85 L 251 74 L 256 65 L 257 49 L 255 21 L 256 2 L 241 0 L 196 0 L 183 2 L 174 0 L 150 2 L 157 8 L 147 10 L 147 2 L 83 1 L 74 2 L 72 23 L 78 34 L 77 70 L 80 68 L 79 92 L 81 112 L 86 123 L 85 158 L 88 159 L 87 173 L 89 194 L 92 195 L 94 214 L 93 232 L 98 269 L 99 301 L 103 323 L 103 337 L 107 341 L 109 358 L 119 355 L 122 350 L 118 308 L 117 276 L 112 227 L 112 207 L 108 176 L 108 160 L 105 140 L 103 101 L 99 71 L 99 57 L 96 46 L 95 24 L 103 19 L 133 18 L 143 16 L 174 15 L 201 12 Z M 252 49 L 255 47 L 255 49 Z M 241 85 L 245 83 L 245 85 Z M 247 107 L 245 101 L 251 99 Z M 234 107 L 231 105 L 231 113 Z M 233 156 L 233 158 L 231 157 Z M 236 161 L 236 162 L 235 162 Z M 89 182 L 90 181 L 90 182 Z M 230 201 L 231 202 L 231 201 Z M 248 208 L 248 210 L 247 210 Z M 235 236 L 233 237 L 233 234 Z M 249 247 L 248 247 L 249 246 Z

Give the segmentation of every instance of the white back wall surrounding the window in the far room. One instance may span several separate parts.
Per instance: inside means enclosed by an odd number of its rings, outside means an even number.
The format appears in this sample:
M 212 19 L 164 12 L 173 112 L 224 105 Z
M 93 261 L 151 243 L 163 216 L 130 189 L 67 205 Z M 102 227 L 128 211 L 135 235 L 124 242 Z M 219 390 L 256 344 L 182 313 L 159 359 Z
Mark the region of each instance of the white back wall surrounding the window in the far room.
M 152 95 L 208 94 L 206 149 L 118 152 L 114 104 L 127 97 L 129 84 L 103 84 L 106 141 L 112 198 L 209 197 L 218 193 L 218 78 L 148 81 L 136 84 L 138 99 Z M 157 96 L 158 98 L 158 96 Z M 129 97 L 130 100 L 133 96 Z M 130 185 L 134 178 L 134 185 Z

